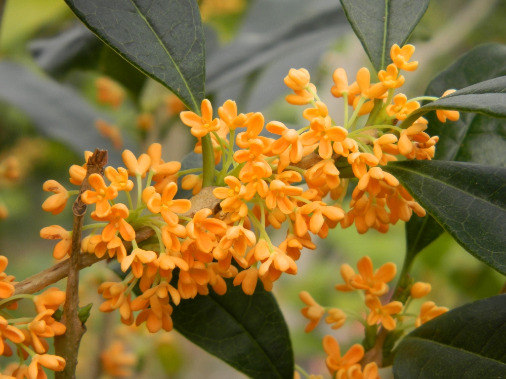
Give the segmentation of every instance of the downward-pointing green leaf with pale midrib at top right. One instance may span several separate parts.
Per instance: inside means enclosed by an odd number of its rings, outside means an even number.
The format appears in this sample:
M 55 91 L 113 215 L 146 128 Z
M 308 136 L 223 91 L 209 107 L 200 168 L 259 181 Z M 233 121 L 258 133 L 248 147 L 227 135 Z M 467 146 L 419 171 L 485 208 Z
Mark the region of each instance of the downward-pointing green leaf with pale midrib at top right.
M 429 6 L 429 0 L 340 1 L 376 71 L 392 62 L 390 48 L 406 43 Z

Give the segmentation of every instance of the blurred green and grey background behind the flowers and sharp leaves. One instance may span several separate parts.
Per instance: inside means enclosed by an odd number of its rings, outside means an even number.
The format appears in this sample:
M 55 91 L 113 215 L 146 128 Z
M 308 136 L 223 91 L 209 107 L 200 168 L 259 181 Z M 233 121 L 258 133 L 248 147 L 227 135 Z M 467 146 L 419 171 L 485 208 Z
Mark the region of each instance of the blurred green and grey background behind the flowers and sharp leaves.
M 207 92 L 215 109 L 231 98 L 240 111 L 264 112 L 266 121 L 305 126 L 302 109 L 284 102 L 288 89 L 283 85 L 289 68 L 305 67 L 331 115 L 342 119 L 341 102 L 329 93 L 331 74 L 344 67 L 351 79 L 368 63 L 337 0 L 201 0 L 199 4 L 206 34 Z M 315 26 L 311 21 L 332 12 L 331 23 Z M 505 19 L 504 1 L 432 0 L 409 40 L 416 46 L 413 59 L 420 64 L 416 72 L 405 75 L 403 90 L 408 97 L 423 93 L 437 72 L 474 46 L 506 43 Z M 39 230 L 52 224 L 71 227 L 70 207 L 57 216 L 40 208 L 48 196 L 42 191 L 44 181 L 55 179 L 72 188 L 68 168 L 83 164 L 83 151 L 96 147 L 108 148 L 111 163 L 119 164 L 119 151 L 99 133 L 94 120 L 115 125 L 124 147 L 135 152 L 160 142 L 165 160 L 181 160 L 192 151 L 194 140 L 168 109 L 170 93 L 106 48 L 80 25 L 63 0 L 7 0 L 0 52 L 0 162 L 15 156 L 21 165 L 18 180 L 0 181 L 0 197 L 9 210 L 9 217 L 0 220 L 0 254 L 9 258 L 7 272 L 22 280 L 55 263 L 54 242 L 40 239 Z M 101 76 L 125 91 L 126 99 L 118 109 L 97 101 L 95 80 Z M 143 113 L 154 117 L 150 130 L 138 125 L 137 117 Z M 272 233 L 275 241 L 282 240 L 282 232 Z M 346 349 L 361 340 L 363 328 L 348 321 L 334 331 L 323 323 L 304 334 L 307 320 L 300 314 L 303 304 L 298 293 L 306 290 L 324 306 L 364 310 L 358 295 L 335 291 L 334 285 L 342 281 L 339 267 L 355 266 L 360 257 L 369 255 L 375 266 L 392 261 L 400 268 L 404 224 L 399 222 L 387 234 L 369 230 L 365 235 L 358 235 L 353 226 L 345 230 L 338 226 L 326 240 L 314 241 L 318 248 L 303 251 L 299 273 L 282 275 L 273 292 L 290 327 L 296 361 L 312 373 L 326 374 L 322 336 L 332 334 Z M 433 291 L 424 300 L 449 308 L 495 295 L 504 281 L 447 234 L 418 256 L 412 273 L 416 280 L 432 284 Z M 175 331 L 149 335 L 144 327 L 134 330 L 121 325 L 116 313 L 100 313 L 97 287 L 103 280 L 115 280 L 104 262 L 81 275 L 81 305 L 93 302 L 95 306 L 81 343 L 78 378 L 104 375 L 99 354 L 115 340 L 138 356 L 134 374 L 138 378 L 244 377 Z M 58 283 L 64 286 L 63 281 Z M 17 313 L 27 312 L 33 312 L 31 306 L 21 303 Z

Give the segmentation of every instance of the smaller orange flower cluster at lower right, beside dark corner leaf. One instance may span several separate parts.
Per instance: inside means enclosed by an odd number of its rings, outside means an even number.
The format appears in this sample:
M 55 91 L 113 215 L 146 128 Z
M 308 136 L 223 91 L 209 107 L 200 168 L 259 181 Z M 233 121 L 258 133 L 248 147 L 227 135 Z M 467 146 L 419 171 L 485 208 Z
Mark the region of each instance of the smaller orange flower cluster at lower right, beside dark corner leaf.
M 385 263 L 374 270 L 371 259 L 365 256 L 357 262 L 357 270 L 358 273 L 355 273 L 350 265 L 341 265 L 341 276 L 344 283 L 335 285 L 335 289 L 340 292 L 359 292 L 364 299 L 368 312 L 365 318 L 363 317 L 365 312 L 359 313 L 352 310 L 323 307 L 309 293 L 303 291 L 299 294 L 299 297 L 306 304 L 301 313 L 309 319 L 305 328 L 306 333 L 313 330 L 323 316 L 327 314 L 325 322 L 331 325 L 332 329 L 340 328 L 350 317 L 364 325 L 366 334 L 367 329 L 372 330 L 374 339 L 378 325 L 381 325 L 387 331 L 399 331 L 399 334 L 392 334 L 399 339 L 404 335 L 405 330 L 418 327 L 448 311 L 448 308 L 438 307 L 433 302 L 427 301 L 421 305 L 418 315 L 408 313 L 412 299 L 423 298 L 431 292 L 431 285 L 424 282 L 413 283 L 404 290 L 408 294 L 405 304 L 396 300 L 387 303 L 382 302 L 380 298 L 389 292 L 388 283 L 394 279 L 397 273 L 396 265 L 392 262 Z M 360 291 L 363 291 L 363 293 Z M 366 340 L 364 340 L 364 345 Z M 365 347 L 370 349 L 372 346 L 366 345 Z M 327 368 L 330 374 L 334 375 L 333 377 L 355 379 L 356 375 L 362 374 L 363 376 L 358 377 L 378 378 L 376 363 L 366 364 L 363 370 L 359 364 L 364 357 L 364 346 L 355 344 L 345 355 L 341 356 L 339 343 L 332 336 L 327 335 L 323 338 L 323 349 L 327 353 L 325 361 Z

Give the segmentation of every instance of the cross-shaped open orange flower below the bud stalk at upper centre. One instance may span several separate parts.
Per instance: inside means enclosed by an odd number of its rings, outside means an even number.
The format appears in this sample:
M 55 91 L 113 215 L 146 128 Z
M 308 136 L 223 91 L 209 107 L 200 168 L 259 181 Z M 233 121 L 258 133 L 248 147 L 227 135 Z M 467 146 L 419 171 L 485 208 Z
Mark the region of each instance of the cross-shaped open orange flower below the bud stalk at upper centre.
M 310 130 L 303 133 L 300 137 L 304 146 L 319 142 L 318 154 L 323 159 L 329 159 L 332 156 L 332 145 L 330 141 L 343 142 L 348 135 L 348 130 L 345 128 L 330 125 L 330 117 L 316 117 L 311 121 Z

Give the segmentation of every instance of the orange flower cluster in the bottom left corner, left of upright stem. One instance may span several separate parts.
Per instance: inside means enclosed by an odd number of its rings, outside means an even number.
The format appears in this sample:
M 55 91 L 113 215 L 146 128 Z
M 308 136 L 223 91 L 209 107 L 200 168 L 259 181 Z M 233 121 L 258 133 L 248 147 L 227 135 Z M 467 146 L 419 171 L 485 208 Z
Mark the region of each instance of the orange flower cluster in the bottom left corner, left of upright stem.
M 57 355 L 47 354 L 49 344 L 47 338 L 61 336 L 65 333 L 65 325 L 57 321 L 55 315 L 58 307 L 65 302 L 65 292 L 58 288 L 48 288 L 39 295 L 14 295 L 15 277 L 7 275 L 8 260 L 0 256 L 0 306 L 17 309 L 17 301 L 21 298 L 30 299 L 37 312 L 35 317 L 14 318 L 10 313 L 2 311 L 0 315 L 0 355 L 11 357 L 17 351 L 21 363 L 14 367 L 13 372 L 3 378 L 26 377 L 28 379 L 46 378 L 43 367 L 61 371 L 65 368 L 65 360 Z M 59 320 L 59 318 L 58 318 Z M 11 344 L 16 346 L 13 350 Z M 31 357 L 29 365 L 24 361 Z M 1 375 L 1 374 L 0 374 Z M 12 375 L 12 376 L 11 376 Z

